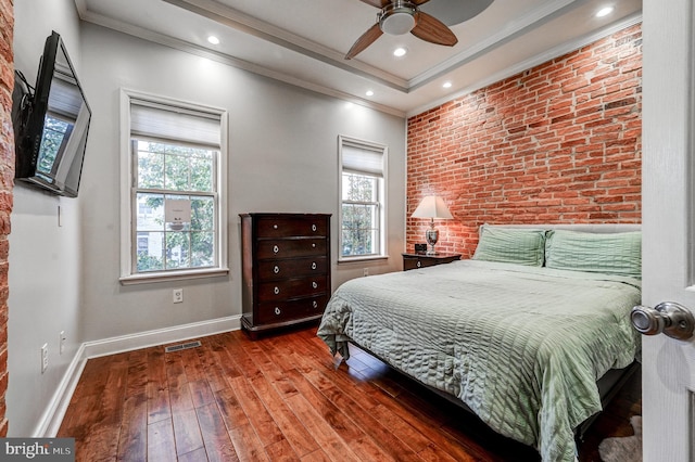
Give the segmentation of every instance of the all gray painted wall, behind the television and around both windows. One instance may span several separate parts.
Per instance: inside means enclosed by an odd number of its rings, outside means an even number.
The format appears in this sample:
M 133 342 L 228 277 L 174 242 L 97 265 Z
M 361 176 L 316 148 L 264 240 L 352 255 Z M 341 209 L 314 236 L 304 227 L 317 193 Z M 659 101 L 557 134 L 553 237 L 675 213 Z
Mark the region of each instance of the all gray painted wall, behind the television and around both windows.
M 10 436 L 33 436 L 84 342 L 241 313 L 239 217 L 245 211 L 329 213 L 333 288 L 402 268 L 405 120 L 79 22 L 72 0 L 15 2 L 17 68 L 33 82 L 43 41 L 64 38 L 93 116 L 79 198 L 15 188 L 10 236 Z M 121 88 L 229 111 L 228 277 L 123 286 L 119 275 Z M 338 136 L 389 146 L 387 260 L 336 264 Z M 58 208 L 62 227 L 58 226 Z M 172 290 L 185 301 L 174 305 Z M 59 355 L 59 332 L 67 332 Z M 49 369 L 40 373 L 40 347 Z

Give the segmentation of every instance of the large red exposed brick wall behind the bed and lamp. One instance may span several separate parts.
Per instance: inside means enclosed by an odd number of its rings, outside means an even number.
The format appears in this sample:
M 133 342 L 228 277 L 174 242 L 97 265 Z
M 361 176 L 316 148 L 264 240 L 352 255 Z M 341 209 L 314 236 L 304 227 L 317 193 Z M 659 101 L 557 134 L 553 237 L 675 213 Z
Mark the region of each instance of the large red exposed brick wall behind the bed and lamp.
M 642 27 L 632 26 L 408 119 L 407 248 L 441 195 L 440 252 L 480 224 L 641 222 Z

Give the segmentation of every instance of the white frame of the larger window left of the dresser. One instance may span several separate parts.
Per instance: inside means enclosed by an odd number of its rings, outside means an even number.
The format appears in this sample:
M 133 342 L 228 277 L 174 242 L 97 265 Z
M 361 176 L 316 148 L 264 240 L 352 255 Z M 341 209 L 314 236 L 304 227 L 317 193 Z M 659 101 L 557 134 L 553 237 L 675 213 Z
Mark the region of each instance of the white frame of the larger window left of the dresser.
M 219 158 L 217 159 L 217 221 L 216 235 L 216 261 L 217 266 L 210 268 L 189 268 L 176 270 L 163 270 L 151 272 L 134 271 L 134 246 L 137 246 L 137 233 L 135 213 L 137 207 L 135 201 L 135 163 L 131 152 L 130 133 L 130 106 L 132 101 L 149 102 L 152 104 L 163 104 L 182 111 L 193 111 L 197 113 L 211 114 L 219 117 Z M 228 113 L 218 107 L 204 106 L 186 101 L 174 100 L 166 97 L 142 93 L 135 90 L 121 90 L 121 278 L 123 285 L 142 284 L 163 281 L 175 281 L 186 279 L 210 278 L 229 273 L 228 264 L 228 231 L 227 231 L 227 153 L 228 153 Z M 176 144 L 176 140 L 170 143 Z

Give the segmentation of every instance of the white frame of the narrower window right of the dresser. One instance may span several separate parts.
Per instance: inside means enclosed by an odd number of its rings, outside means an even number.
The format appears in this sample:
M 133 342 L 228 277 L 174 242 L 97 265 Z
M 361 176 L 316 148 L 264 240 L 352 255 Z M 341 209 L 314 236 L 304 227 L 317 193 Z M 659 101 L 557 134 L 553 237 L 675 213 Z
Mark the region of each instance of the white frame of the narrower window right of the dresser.
M 343 256 L 343 172 L 354 172 L 362 174 L 364 176 L 375 176 L 370 171 L 361 171 L 358 168 L 351 168 L 346 170 L 344 168 L 343 163 L 343 146 L 350 145 L 357 149 L 363 149 L 367 151 L 374 151 L 382 156 L 381 163 L 381 175 L 380 181 L 378 185 L 378 196 L 379 196 L 379 253 L 371 255 L 354 255 L 354 256 Z M 366 260 L 378 260 L 388 258 L 388 246 L 387 246 L 387 236 L 389 235 L 387 229 L 387 213 L 388 213 L 388 203 L 387 203 L 387 191 L 389 179 L 387 172 L 388 169 L 388 156 L 389 147 L 384 144 L 375 143 L 371 141 L 365 141 L 357 138 L 338 136 L 338 262 L 351 262 L 351 261 L 366 261 Z

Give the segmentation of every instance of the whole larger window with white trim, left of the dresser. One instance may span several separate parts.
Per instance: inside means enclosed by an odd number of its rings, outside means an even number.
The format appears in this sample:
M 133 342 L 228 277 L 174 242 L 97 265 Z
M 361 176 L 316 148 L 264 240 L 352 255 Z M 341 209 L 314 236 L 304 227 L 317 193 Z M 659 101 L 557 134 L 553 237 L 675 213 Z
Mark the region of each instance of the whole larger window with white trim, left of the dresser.
M 226 112 L 125 90 L 122 110 L 122 282 L 226 273 Z

